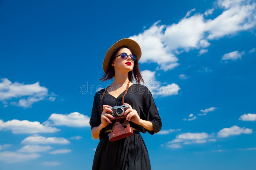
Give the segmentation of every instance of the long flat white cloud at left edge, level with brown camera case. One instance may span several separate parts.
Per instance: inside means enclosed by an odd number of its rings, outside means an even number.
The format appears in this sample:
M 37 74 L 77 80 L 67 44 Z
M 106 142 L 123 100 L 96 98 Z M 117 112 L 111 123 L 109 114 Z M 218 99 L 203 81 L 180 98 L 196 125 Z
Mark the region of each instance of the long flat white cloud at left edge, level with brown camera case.
M 31 133 L 55 133 L 60 131 L 55 127 L 44 126 L 40 124 L 40 122 L 30 122 L 28 120 L 9 120 L 7 122 L 3 122 L 0 119 L 0 130 L 4 131 L 12 131 L 14 134 L 31 134 Z

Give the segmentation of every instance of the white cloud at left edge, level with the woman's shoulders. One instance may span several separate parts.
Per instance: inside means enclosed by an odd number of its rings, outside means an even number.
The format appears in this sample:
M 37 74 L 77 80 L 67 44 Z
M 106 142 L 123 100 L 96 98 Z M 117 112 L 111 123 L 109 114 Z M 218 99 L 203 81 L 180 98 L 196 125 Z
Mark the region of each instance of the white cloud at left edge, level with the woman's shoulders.
M 0 101 L 6 102 L 6 100 L 23 97 L 18 102 L 10 102 L 11 105 L 27 108 L 31 107 L 33 103 L 51 96 L 48 95 L 48 89 L 40 86 L 38 81 L 34 84 L 24 84 L 12 83 L 6 78 L 0 80 Z M 7 103 L 5 107 L 7 107 Z

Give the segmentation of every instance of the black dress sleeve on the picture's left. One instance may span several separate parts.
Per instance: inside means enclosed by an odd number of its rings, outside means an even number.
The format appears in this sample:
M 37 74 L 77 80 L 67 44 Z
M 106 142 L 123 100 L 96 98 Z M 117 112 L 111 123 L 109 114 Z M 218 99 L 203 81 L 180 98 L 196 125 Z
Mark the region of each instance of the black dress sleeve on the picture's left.
M 93 99 L 93 104 L 92 104 L 92 115 L 89 122 L 91 125 L 91 129 L 95 126 L 99 126 L 101 123 L 100 112 L 97 105 L 97 103 L 99 102 L 99 99 L 97 96 L 98 94 L 96 93 Z

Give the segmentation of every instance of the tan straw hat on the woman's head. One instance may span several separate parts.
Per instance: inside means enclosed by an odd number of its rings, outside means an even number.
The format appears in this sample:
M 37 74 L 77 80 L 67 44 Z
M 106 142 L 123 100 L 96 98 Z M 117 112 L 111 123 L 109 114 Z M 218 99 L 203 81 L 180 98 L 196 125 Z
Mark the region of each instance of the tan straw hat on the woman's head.
M 132 51 L 134 52 L 134 55 L 136 55 L 137 60 L 140 60 L 141 57 L 141 49 L 139 44 L 132 40 L 132 39 L 120 39 L 119 41 L 117 41 L 115 44 L 113 44 L 107 51 L 105 58 L 103 60 L 103 70 L 106 73 L 107 68 L 108 68 L 108 63 L 109 60 L 111 58 L 111 55 L 116 51 L 116 49 L 118 49 L 121 46 L 128 46 L 132 49 Z

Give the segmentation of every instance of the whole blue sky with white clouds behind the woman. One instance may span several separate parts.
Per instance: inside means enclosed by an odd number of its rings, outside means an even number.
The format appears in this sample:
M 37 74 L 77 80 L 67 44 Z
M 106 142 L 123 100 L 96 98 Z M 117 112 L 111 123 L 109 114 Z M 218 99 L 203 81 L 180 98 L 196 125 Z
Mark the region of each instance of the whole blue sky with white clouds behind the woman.
M 1 170 L 91 169 L 93 96 L 123 38 L 162 118 L 141 134 L 152 169 L 255 169 L 255 1 L 3 0 L 0 16 Z

